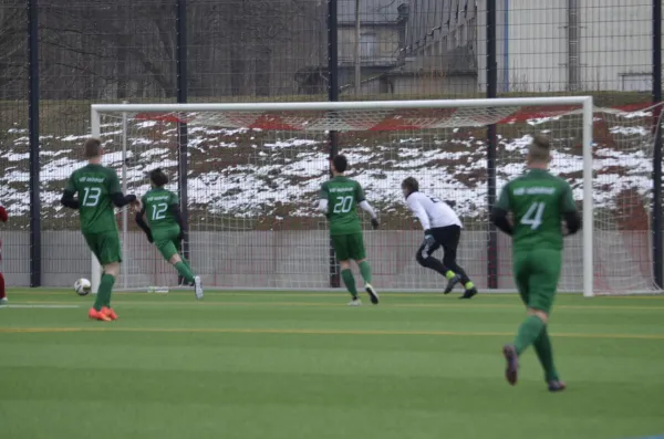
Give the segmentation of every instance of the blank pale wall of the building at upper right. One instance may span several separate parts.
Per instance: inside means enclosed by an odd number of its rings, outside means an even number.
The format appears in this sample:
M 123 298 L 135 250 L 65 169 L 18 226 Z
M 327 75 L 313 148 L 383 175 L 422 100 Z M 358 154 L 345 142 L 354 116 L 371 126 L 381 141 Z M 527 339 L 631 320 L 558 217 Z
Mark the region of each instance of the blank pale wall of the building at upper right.
M 631 76 L 652 72 L 652 2 L 578 3 L 580 88 L 631 91 Z M 497 60 L 499 81 L 508 72 L 511 92 L 564 91 L 568 0 L 510 0 L 507 17 L 507 31 L 499 23 L 497 32 L 499 48 L 508 48 Z

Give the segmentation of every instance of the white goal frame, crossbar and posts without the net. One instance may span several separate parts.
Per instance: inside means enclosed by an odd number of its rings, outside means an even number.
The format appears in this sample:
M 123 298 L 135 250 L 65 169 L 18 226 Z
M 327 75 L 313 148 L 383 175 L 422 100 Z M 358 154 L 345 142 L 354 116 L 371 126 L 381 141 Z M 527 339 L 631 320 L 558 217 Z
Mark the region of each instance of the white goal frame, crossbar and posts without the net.
M 180 114 L 190 113 L 294 113 L 294 112 L 398 112 L 398 111 L 436 111 L 456 108 L 518 108 L 518 107 L 560 107 L 575 106 L 582 113 L 582 150 L 583 150 L 583 180 L 590 184 L 583 185 L 583 295 L 593 295 L 593 197 L 592 197 L 592 126 L 593 126 L 593 98 L 592 96 L 560 96 L 560 97 L 509 97 L 492 100 L 424 100 L 424 101 L 359 101 L 359 102 L 299 102 L 299 103 L 226 103 L 226 104 L 93 104 L 91 106 L 91 134 L 101 135 L 101 115 L 116 114 L 126 117 L 126 114 Z M 513 112 L 513 109 L 512 109 Z M 183 121 L 187 122 L 184 117 Z M 498 119 L 479 118 L 470 123 L 470 126 L 481 126 L 498 123 Z M 452 121 L 454 124 L 454 121 Z M 225 127 L 222 121 L 211 121 Z M 449 125 L 446 125 L 449 126 Z M 232 127 L 227 126 L 227 127 Z M 425 124 L 419 128 L 426 129 Z M 292 127 L 291 127 L 292 128 Z M 325 123 L 307 129 L 318 130 L 353 130 L 353 126 L 338 124 L 326 126 Z M 278 128 L 276 128 L 278 129 Z M 355 129 L 366 129 L 357 127 Z M 375 128 L 380 130 L 380 126 Z M 390 128 L 386 128 L 390 129 Z M 407 126 L 404 127 L 407 129 Z M 101 281 L 101 266 L 94 255 L 92 257 L 92 284 L 93 292 L 97 291 Z

